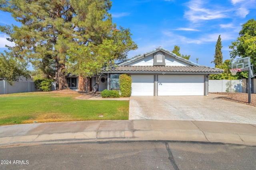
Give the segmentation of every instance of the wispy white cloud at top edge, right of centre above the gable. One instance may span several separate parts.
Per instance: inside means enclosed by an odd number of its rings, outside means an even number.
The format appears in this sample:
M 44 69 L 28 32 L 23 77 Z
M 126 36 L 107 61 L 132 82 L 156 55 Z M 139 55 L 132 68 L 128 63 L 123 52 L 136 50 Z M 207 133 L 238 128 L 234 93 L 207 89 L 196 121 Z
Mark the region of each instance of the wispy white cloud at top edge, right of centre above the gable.
M 226 18 L 226 12 L 222 10 L 215 10 L 210 8 L 204 8 L 204 1 L 202 0 L 191 0 L 187 3 L 189 8 L 185 12 L 184 16 L 192 22 L 200 20 L 214 20 L 219 18 Z

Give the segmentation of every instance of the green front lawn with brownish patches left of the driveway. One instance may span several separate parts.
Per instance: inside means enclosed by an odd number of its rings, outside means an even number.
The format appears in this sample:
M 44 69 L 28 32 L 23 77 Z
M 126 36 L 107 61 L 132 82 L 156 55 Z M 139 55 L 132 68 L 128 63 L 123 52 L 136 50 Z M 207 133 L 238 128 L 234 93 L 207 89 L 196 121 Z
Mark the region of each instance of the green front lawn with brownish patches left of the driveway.
M 77 96 L 33 92 L 0 95 L 0 125 L 128 119 L 129 101 L 76 100 Z

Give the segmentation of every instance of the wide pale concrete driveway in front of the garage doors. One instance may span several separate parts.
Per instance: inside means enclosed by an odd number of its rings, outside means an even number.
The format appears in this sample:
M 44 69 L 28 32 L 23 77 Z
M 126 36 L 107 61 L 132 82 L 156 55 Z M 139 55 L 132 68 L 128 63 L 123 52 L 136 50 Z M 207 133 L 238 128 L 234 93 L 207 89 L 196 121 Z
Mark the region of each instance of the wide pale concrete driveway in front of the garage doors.
M 256 107 L 214 98 L 216 96 L 131 96 L 129 120 L 196 120 L 256 124 Z

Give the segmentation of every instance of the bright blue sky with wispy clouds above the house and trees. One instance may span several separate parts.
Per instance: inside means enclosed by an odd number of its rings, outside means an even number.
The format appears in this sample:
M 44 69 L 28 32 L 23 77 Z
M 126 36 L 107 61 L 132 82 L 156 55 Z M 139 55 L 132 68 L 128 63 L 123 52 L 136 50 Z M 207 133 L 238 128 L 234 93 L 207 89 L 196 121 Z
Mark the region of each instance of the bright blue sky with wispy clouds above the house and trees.
M 159 46 L 191 55 L 190 61 L 212 66 L 218 36 L 222 39 L 223 60 L 230 59 L 228 45 L 235 41 L 246 21 L 256 19 L 256 0 L 112 0 L 109 11 L 117 25 L 130 28 L 138 45 L 128 57 Z M 0 24 L 18 24 L 0 11 Z M 7 35 L 0 32 L 0 52 Z

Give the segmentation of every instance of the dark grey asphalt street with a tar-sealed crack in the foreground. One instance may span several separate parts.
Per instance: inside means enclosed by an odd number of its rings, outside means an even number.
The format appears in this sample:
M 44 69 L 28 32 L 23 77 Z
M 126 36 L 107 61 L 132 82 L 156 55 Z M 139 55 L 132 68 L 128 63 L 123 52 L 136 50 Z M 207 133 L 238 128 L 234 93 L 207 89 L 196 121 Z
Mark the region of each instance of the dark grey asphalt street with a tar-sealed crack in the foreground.
M 256 169 L 256 147 L 119 141 L 1 147 L 0 170 L 220 170 Z

